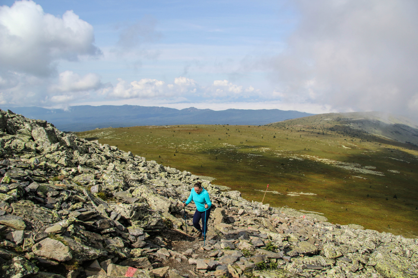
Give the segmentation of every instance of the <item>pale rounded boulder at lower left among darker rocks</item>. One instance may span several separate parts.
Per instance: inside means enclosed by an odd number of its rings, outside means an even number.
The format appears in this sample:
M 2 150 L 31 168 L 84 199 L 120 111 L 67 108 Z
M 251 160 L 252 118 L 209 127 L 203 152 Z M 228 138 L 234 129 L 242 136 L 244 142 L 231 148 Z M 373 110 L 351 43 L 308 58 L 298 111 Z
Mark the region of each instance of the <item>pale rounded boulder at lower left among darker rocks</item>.
M 35 255 L 58 260 L 60 262 L 65 262 L 66 260 L 71 260 L 71 258 L 73 258 L 68 246 L 64 245 L 61 241 L 52 238 L 45 238 L 33 245 L 32 252 L 35 253 Z

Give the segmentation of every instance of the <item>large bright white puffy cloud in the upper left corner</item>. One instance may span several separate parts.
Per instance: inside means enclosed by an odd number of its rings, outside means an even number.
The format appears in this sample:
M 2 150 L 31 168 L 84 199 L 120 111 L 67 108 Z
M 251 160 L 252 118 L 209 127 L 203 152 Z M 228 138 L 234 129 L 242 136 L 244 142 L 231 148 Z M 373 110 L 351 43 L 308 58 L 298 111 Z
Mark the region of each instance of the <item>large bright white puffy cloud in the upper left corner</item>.
M 36 76 L 54 73 L 59 59 L 97 55 L 89 23 L 69 10 L 61 18 L 44 13 L 33 1 L 0 7 L 0 70 Z

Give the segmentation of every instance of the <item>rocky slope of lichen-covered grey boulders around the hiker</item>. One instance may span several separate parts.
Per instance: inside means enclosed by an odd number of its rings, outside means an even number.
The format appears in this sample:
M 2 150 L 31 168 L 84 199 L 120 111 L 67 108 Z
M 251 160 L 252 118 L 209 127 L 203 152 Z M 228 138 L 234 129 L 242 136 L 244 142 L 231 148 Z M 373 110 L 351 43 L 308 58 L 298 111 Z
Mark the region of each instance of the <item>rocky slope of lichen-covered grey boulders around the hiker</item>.
M 418 240 L 250 203 L 207 180 L 206 242 L 193 237 L 193 205 L 186 236 L 178 204 L 198 176 L 11 111 L 0 130 L 0 277 L 418 277 Z

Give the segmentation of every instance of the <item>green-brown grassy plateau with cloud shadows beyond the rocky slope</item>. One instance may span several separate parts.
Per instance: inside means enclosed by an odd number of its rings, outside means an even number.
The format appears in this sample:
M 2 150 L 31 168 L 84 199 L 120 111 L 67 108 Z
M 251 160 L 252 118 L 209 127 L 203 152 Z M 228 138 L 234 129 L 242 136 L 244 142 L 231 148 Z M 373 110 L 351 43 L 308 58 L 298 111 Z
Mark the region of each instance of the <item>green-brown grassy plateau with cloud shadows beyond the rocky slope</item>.
M 324 117 L 325 118 L 325 117 Z M 164 166 L 216 178 L 212 184 L 329 222 L 418 235 L 414 146 L 347 129 L 321 115 L 266 126 L 170 125 L 78 133 Z

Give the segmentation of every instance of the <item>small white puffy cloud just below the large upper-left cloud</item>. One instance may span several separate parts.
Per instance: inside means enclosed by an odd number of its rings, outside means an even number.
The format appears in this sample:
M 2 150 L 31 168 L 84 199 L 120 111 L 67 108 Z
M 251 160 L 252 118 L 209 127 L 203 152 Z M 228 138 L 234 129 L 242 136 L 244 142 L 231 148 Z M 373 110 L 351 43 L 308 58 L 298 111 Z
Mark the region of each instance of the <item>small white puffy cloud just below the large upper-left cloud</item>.
M 102 86 L 99 75 L 87 73 L 80 76 L 71 70 L 66 70 L 59 74 L 58 84 L 51 85 L 51 92 L 80 92 L 98 89 Z

